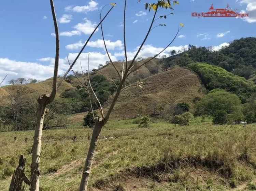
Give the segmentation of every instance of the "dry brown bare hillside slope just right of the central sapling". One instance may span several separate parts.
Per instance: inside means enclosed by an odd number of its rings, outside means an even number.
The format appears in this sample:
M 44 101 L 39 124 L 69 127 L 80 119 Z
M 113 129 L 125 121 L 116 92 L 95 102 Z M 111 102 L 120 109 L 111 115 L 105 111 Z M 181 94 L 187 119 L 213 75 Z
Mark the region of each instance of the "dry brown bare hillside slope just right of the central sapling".
M 195 98 L 202 97 L 198 76 L 187 69 L 174 69 L 152 75 L 144 80 L 143 88 L 130 87 L 119 96 L 111 118 L 133 118 L 150 115 L 155 105 L 188 103 L 193 108 Z M 112 98 L 105 103 L 108 108 Z

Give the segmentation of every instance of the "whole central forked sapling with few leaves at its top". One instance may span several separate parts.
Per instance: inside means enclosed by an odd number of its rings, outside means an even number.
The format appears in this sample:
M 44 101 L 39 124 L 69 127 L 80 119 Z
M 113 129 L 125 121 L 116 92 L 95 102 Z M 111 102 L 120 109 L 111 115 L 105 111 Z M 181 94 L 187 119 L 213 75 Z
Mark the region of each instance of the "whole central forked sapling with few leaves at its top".
M 178 4 L 177 1 L 172 1 L 172 2 L 173 2 L 173 4 Z M 111 103 L 108 111 L 106 112 L 106 115 L 103 114 L 102 106 L 101 106 L 101 104 L 100 104 L 96 94 L 94 93 L 93 88 L 90 85 L 90 79 L 89 79 L 90 78 L 90 76 L 89 76 L 89 56 L 88 56 L 88 84 L 89 84 L 89 86 L 86 84 L 86 87 L 85 86 L 83 86 L 83 87 L 86 89 L 87 92 L 89 92 L 88 94 L 91 93 L 93 95 L 93 98 L 96 100 L 95 103 L 97 102 L 97 105 L 98 105 L 99 110 L 100 110 L 101 118 L 94 118 L 95 126 L 93 128 L 93 133 L 92 133 L 92 136 L 91 136 L 91 141 L 90 141 L 88 153 L 87 153 L 87 157 L 86 157 L 86 160 L 85 160 L 85 165 L 84 165 L 84 170 L 83 170 L 83 174 L 82 174 L 82 179 L 81 179 L 79 191 L 86 191 L 87 190 L 88 182 L 89 182 L 89 176 L 90 176 L 90 173 L 91 173 L 91 168 L 92 168 L 92 165 L 93 165 L 93 159 L 94 159 L 94 155 L 95 155 L 95 150 L 96 150 L 96 147 L 97 147 L 97 142 L 98 142 L 98 138 L 99 138 L 101 129 L 106 124 L 106 122 L 109 120 L 110 114 L 111 114 L 111 112 L 112 112 L 112 110 L 113 110 L 113 108 L 115 106 L 115 103 L 116 103 L 116 101 L 117 101 L 117 99 L 118 99 L 118 97 L 120 95 L 120 92 L 122 92 L 123 89 L 126 89 L 126 88 L 134 86 L 134 85 L 138 85 L 139 87 L 142 87 L 142 85 L 143 85 L 142 82 L 137 82 L 135 84 L 134 83 L 132 83 L 132 84 L 125 84 L 127 77 L 132 72 L 138 71 L 138 69 L 140 69 L 146 63 L 150 62 L 150 60 L 156 58 L 163 51 L 165 51 L 172 44 L 172 42 L 174 41 L 174 39 L 177 37 L 177 35 L 179 34 L 180 30 L 184 26 L 182 23 L 180 23 L 181 28 L 178 28 L 177 33 L 174 36 L 174 38 L 171 40 L 171 42 L 161 52 L 159 52 L 154 57 L 152 57 L 151 59 L 147 60 L 146 62 L 144 62 L 143 64 L 141 64 L 137 68 L 134 68 L 134 62 L 135 62 L 137 56 L 139 55 L 143 45 L 145 44 L 148 36 L 152 32 L 152 30 L 155 29 L 156 27 L 159 27 L 159 26 L 161 26 L 161 27 L 166 26 L 166 24 L 158 24 L 155 27 L 153 26 L 156 20 L 158 20 L 160 18 L 166 18 L 167 17 L 167 15 L 163 15 L 163 16 L 160 15 L 159 17 L 157 17 L 157 13 L 159 13 L 160 10 L 165 9 L 165 8 L 166 9 L 170 8 L 172 10 L 173 10 L 173 8 L 171 6 L 170 1 L 168 1 L 168 0 L 158 0 L 156 3 L 146 3 L 145 4 L 146 10 L 147 10 L 147 8 L 149 9 L 149 11 L 151 9 L 153 9 L 154 16 L 153 16 L 153 19 L 151 21 L 150 27 L 149 27 L 146 35 L 145 35 L 145 38 L 143 39 L 143 41 L 142 41 L 138 51 L 136 52 L 135 56 L 133 57 L 132 61 L 128 65 L 127 50 L 126 50 L 126 34 L 125 34 L 126 4 L 127 4 L 127 0 L 125 0 L 125 2 L 124 2 L 124 21 L 123 21 L 124 30 L 123 30 L 123 34 L 124 34 L 124 54 L 125 54 L 124 57 L 125 57 L 125 60 L 124 60 L 124 63 L 123 63 L 122 73 L 120 73 L 117 70 L 117 68 L 115 67 L 114 63 L 112 62 L 112 59 L 111 59 L 111 57 L 109 55 L 109 52 L 108 52 L 108 49 L 106 47 L 102 23 L 100 24 L 102 39 L 103 39 L 103 42 L 104 42 L 104 47 L 105 47 L 106 53 L 107 53 L 107 55 L 109 57 L 110 63 L 112 64 L 112 66 L 114 67 L 115 71 L 117 72 L 117 74 L 119 76 L 119 80 L 120 80 L 120 84 L 117 86 L 116 93 L 114 95 L 114 98 L 112 100 L 112 103 Z M 172 13 L 170 13 L 168 15 L 171 15 L 171 14 Z M 101 20 L 101 12 L 100 12 L 100 20 Z M 80 82 L 80 83 L 83 85 L 82 82 Z M 91 107 L 91 111 L 93 112 L 92 107 Z

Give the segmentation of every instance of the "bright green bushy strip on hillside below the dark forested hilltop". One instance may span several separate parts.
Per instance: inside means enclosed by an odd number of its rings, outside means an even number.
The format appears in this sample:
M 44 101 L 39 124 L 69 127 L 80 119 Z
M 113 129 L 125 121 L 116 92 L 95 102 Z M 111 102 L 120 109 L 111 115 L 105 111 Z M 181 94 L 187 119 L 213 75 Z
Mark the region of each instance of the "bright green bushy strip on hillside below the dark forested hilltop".
M 243 103 L 256 91 L 254 83 L 221 67 L 205 63 L 194 63 L 189 65 L 189 68 L 201 77 L 202 83 L 207 89 L 221 88 L 233 92 L 238 95 Z

